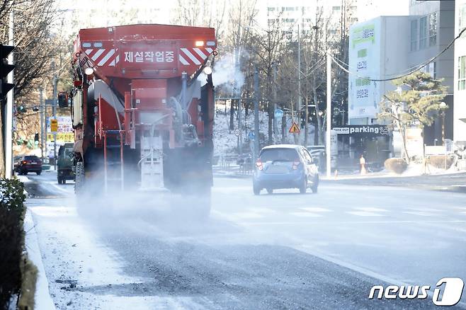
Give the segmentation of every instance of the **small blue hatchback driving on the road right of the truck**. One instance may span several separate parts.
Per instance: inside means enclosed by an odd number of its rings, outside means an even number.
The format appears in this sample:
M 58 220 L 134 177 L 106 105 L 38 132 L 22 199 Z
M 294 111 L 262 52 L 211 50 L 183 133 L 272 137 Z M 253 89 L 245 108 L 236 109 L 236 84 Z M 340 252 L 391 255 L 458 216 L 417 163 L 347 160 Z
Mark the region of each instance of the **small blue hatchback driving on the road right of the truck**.
M 277 144 L 264 147 L 256 161 L 253 175 L 254 195 L 265 188 L 269 194 L 278 188 L 307 188 L 317 193 L 319 172 L 311 154 L 305 147 L 294 144 Z

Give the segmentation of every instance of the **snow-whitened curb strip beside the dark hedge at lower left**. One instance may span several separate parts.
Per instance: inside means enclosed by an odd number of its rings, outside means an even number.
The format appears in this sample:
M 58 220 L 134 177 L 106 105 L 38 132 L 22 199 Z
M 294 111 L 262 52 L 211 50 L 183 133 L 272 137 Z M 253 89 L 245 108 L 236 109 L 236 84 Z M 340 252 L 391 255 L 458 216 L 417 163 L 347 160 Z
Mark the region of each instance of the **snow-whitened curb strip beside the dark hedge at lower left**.
M 42 263 L 42 256 L 40 254 L 37 232 L 35 231 L 33 214 L 27 206 L 24 217 L 24 233 L 25 248 L 28 253 L 28 258 L 33 262 L 35 267 L 38 268 L 38 278 L 35 282 L 34 309 L 56 309 L 52 297 L 50 297 L 49 282 L 45 273 L 44 264 Z

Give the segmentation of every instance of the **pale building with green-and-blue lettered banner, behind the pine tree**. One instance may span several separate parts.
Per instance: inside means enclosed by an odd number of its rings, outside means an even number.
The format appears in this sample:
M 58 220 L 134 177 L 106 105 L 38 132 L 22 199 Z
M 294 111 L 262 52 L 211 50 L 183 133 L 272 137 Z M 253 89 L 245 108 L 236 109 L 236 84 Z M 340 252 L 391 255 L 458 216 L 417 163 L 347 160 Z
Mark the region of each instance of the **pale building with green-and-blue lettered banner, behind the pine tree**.
M 348 79 L 348 118 L 350 124 L 377 124 L 382 96 L 394 90 L 391 81 L 362 83 L 360 76 L 393 78 L 435 57 L 421 70 L 443 79 L 450 109 L 445 113 L 445 127 L 439 117 L 425 128 L 424 143 L 441 144 L 443 132 L 445 138 L 453 137 L 453 47 L 443 50 L 454 38 L 455 2 L 409 1 L 409 16 L 381 16 L 351 26 L 349 67 L 353 74 Z M 357 51 L 356 45 L 360 45 Z

